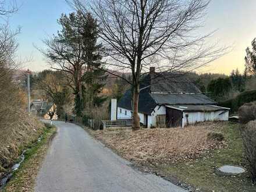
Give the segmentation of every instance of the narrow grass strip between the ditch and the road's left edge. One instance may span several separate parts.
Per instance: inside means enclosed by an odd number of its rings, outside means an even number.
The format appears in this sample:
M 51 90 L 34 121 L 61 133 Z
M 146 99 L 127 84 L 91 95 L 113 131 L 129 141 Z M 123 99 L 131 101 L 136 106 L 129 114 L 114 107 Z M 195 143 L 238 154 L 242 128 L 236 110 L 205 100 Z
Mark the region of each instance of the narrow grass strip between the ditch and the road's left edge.
M 42 160 L 45 157 L 48 146 L 55 136 L 56 127 L 46 125 L 42 139 L 37 143 L 30 143 L 25 152 L 25 159 L 13 173 L 12 179 L 8 182 L 3 191 L 34 191 L 34 182 L 40 169 Z

